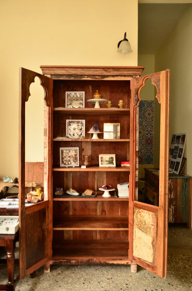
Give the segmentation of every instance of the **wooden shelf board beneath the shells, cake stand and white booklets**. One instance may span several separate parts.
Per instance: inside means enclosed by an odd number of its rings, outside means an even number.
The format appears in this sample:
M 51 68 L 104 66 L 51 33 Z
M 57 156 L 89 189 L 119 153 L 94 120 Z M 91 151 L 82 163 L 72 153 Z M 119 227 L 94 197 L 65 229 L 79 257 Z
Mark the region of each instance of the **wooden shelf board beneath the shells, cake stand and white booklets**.
M 102 193 L 97 193 L 96 197 L 88 197 L 88 196 L 72 196 L 72 197 L 59 197 L 59 195 L 57 197 L 54 196 L 53 201 L 128 201 L 129 198 L 119 198 L 119 197 L 107 197 L 104 198 L 103 196 L 103 192 Z

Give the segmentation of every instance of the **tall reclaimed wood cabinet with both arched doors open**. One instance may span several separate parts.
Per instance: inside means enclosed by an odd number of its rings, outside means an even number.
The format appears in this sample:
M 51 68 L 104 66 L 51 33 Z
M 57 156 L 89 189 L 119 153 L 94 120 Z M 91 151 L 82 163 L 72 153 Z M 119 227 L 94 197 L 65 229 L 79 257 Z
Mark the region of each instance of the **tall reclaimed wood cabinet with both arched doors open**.
M 20 69 L 19 227 L 20 277 L 42 265 L 136 264 L 166 277 L 167 173 L 169 70 L 139 77 L 143 67 L 41 66 L 43 75 Z M 25 103 L 29 86 L 39 77 L 44 88 L 44 201 L 25 208 Z M 137 201 L 138 104 L 140 91 L 150 78 L 161 103 L 160 206 Z M 93 108 L 87 102 L 98 90 L 112 107 Z M 65 92 L 84 91 L 85 108 L 66 108 Z M 124 108 L 118 108 L 122 99 Z M 85 139 L 66 138 L 66 120 L 85 120 Z M 120 139 L 91 139 L 87 133 L 97 124 L 120 123 Z M 78 147 L 79 166 L 60 167 L 59 148 Z M 116 167 L 99 167 L 99 154 L 116 154 Z M 90 166 L 81 168 L 83 155 Z M 121 161 L 130 160 L 130 168 Z M 129 182 L 129 198 L 104 198 L 99 188 Z M 59 197 L 70 188 L 86 189 L 96 197 Z M 148 240 L 146 241 L 146 237 Z M 33 246 L 31 248 L 31 245 Z M 143 247 L 146 247 L 146 254 Z

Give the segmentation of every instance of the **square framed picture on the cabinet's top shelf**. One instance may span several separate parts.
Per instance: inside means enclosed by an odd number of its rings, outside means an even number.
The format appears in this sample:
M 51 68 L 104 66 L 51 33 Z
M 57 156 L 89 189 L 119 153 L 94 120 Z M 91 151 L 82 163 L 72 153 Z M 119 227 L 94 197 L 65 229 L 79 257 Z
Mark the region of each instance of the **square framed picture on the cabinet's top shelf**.
M 85 92 L 84 91 L 66 91 L 65 92 L 65 107 L 66 108 L 84 108 L 85 107 Z

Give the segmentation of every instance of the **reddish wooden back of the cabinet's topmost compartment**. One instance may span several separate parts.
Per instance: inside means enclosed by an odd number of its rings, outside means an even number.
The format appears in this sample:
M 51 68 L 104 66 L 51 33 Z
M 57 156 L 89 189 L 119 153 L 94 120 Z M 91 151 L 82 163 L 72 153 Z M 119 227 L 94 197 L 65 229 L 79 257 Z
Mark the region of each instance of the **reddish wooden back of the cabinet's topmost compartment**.
M 87 100 L 92 99 L 97 90 L 103 99 L 112 101 L 112 107 L 118 107 L 120 99 L 123 100 L 125 108 L 130 107 L 130 81 L 54 80 L 53 88 L 54 107 L 65 107 L 66 91 L 84 91 L 85 107 L 92 108 L 93 104 Z M 100 106 L 106 108 L 106 104 Z

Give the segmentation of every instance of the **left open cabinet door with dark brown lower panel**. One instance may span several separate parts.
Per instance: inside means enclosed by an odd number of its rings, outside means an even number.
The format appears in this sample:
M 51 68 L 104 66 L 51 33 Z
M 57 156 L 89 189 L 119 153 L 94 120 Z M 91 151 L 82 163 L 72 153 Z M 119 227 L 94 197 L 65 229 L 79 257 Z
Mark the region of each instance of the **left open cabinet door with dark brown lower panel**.
M 40 79 L 44 88 L 44 200 L 34 205 L 25 206 L 25 113 L 26 102 L 30 97 L 30 84 L 35 77 Z M 52 102 L 53 80 L 30 70 L 19 71 L 19 273 L 20 278 L 31 274 L 44 265 L 51 256 L 50 242 L 50 111 Z M 37 104 L 38 107 L 38 104 Z M 34 118 L 38 118 L 34 116 Z M 34 141 L 35 142 L 35 141 Z M 32 181 L 31 181 L 32 182 Z

